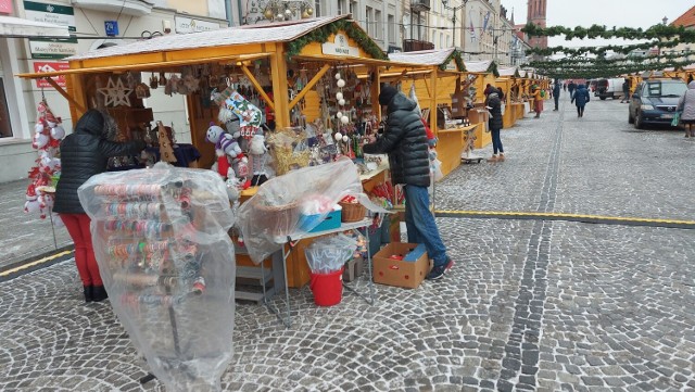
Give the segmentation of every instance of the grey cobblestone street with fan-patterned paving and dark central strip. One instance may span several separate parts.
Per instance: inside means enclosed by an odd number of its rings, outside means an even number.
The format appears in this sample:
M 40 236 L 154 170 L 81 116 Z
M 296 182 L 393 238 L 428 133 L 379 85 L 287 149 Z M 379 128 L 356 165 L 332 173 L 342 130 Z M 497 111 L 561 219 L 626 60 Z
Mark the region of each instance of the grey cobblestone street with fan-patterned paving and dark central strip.
M 292 289 L 289 329 L 237 304 L 223 389 L 695 391 L 695 230 L 660 225 L 695 217 L 695 139 L 635 130 L 617 100 L 592 97 L 582 118 L 560 101 L 503 130 L 505 162 L 439 182 L 438 212 L 654 220 L 438 217 L 456 261 L 443 280 L 328 308 Z M 163 390 L 147 372 L 109 303 L 83 302 L 70 256 L 0 282 L 0 390 Z

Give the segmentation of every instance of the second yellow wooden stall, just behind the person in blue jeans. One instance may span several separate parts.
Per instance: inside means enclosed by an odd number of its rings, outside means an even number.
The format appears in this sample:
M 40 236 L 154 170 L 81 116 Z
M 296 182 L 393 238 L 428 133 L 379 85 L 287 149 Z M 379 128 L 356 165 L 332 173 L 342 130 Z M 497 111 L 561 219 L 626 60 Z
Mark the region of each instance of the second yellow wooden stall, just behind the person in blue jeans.
M 389 59 L 425 67 L 407 69 L 395 66 L 383 80 L 401 83 L 403 91 L 413 91 L 418 99 L 424 118 L 438 137 L 437 152 L 446 176 L 458 167 L 462 154 L 480 124 L 464 125 L 475 98 L 460 53 L 454 48 L 390 53 Z

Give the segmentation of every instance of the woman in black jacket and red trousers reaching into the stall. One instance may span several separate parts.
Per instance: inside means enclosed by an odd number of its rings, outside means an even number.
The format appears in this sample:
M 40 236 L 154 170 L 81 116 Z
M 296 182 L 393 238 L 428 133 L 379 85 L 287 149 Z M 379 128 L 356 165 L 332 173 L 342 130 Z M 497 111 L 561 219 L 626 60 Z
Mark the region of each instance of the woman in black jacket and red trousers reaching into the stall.
M 101 112 L 91 109 L 79 118 L 75 132 L 61 142 L 62 169 L 53 206 L 75 243 L 75 264 L 83 281 L 86 302 L 103 301 L 108 294 L 91 244 L 89 216 L 79 203 L 77 188 L 89 177 L 105 172 L 110 157 L 132 155 L 144 149 L 144 142 L 140 140 L 126 143 L 106 140 L 104 124 Z

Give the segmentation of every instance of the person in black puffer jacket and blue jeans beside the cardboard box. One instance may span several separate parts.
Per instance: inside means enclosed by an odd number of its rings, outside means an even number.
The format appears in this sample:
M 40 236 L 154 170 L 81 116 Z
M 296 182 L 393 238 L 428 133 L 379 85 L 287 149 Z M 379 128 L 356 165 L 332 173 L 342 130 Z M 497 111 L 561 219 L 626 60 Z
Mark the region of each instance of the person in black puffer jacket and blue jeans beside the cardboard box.
M 427 279 L 440 279 L 454 262 L 446 255 L 430 212 L 430 160 L 425 125 L 416 104 L 403 92 L 391 86 L 381 88 L 379 103 L 387 109 L 387 126 L 383 136 L 375 143 L 365 144 L 367 154 L 389 154 L 391 179 L 394 185 L 405 185 L 405 225 L 408 242 L 424 243 L 434 267 Z

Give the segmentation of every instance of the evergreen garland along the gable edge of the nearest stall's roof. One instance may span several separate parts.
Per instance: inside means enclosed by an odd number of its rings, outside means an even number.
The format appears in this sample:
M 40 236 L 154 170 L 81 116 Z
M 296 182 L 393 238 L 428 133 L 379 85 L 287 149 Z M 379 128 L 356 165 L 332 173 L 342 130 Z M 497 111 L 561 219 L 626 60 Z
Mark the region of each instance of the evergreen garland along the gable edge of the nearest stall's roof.
M 305 46 L 319 42 L 324 43 L 328 40 L 328 37 L 338 33 L 339 30 L 345 31 L 348 37 L 352 38 L 357 45 L 376 60 L 389 60 L 387 54 L 379 48 L 377 43 L 369 38 L 369 36 L 353 22 L 348 20 L 340 20 L 333 23 L 329 23 L 325 26 L 320 26 L 307 34 L 294 39 L 287 43 L 287 58 L 288 60 L 300 54 Z

